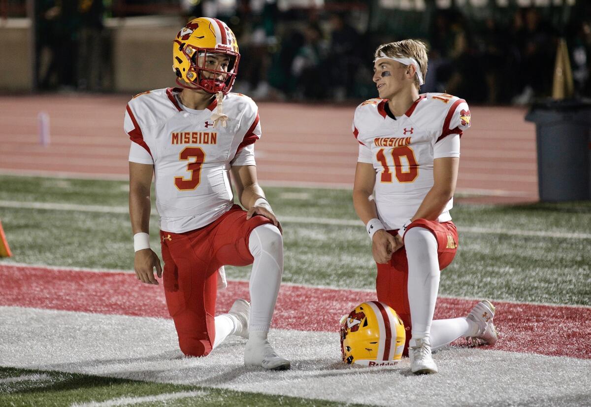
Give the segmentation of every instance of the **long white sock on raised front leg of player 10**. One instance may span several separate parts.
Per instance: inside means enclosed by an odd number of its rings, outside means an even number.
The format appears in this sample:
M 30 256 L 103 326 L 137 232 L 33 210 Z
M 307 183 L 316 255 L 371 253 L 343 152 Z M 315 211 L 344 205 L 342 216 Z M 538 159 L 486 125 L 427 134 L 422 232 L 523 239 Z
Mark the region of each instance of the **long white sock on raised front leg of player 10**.
M 429 337 L 439 291 L 437 240 L 427 229 L 414 227 L 404 235 L 404 246 L 408 259 L 411 334 L 413 338 Z

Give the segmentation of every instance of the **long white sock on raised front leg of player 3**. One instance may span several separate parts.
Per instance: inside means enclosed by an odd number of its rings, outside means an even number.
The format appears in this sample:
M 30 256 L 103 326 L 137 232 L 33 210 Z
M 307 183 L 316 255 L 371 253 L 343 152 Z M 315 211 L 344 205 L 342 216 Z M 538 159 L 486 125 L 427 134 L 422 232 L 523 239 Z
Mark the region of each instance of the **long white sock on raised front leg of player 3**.
M 267 332 L 283 274 L 283 239 L 279 229 L 271 224 L 254 228 L 248 239 L 248 248 L 255 259 L 250 279 L 251 316 L 248 331 Z

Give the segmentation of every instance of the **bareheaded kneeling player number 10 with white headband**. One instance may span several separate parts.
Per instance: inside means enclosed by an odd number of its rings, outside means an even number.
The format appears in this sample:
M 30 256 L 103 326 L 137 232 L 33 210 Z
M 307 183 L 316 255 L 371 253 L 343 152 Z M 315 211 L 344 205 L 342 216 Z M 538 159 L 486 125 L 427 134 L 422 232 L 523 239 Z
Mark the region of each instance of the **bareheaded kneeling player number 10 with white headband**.
M 372 241 L 378 300 L 411 330 L 405 353 L 417 374 L 436 373 L 431 351 L 458 337 L 486 344 L 497 338 L 488 301 L 465 318 L 433 321 L 440 270 L 457 250 L 449 211 L 470 110 L 456 96 L 420 95 L 426 74 L 421 41 L 379 46 L 373 77 L 379 98 L 358 106 L 352 126 L 359 142 L 353 204 Z

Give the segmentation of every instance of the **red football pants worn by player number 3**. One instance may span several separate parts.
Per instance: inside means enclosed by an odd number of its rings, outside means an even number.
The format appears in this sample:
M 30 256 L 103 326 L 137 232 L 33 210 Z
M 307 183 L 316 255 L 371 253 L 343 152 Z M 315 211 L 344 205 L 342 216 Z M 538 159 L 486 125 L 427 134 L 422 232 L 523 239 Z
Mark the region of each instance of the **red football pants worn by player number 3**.
M 254 228 L 272 223 L 234 205 L 219 219 L 190 232 L 160 231 L 164 260 L 164 294 L 187 356 L 206 356 L 215 341 L 217 269 L 247 266 L 254 260 L 248 238 Z

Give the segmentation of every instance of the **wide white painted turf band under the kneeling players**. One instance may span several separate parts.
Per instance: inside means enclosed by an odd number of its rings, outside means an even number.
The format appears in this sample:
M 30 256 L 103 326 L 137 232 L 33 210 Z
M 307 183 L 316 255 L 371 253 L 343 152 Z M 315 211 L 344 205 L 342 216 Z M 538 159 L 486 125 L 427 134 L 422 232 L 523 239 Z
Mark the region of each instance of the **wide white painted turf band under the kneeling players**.
M 0 326 L 2 364 L 29 369 L 384 406 L 398 399 L 470 405 L 475 395 L 482 405 L 548 405 L 591 396 L 589 359 L 455 347 L 434 356 L 439 374 L 417 377 L 407 358 L 377 369 L 343 364 L 337 332 L 271 330 L 269 340 L 292 367 L 268 372 L 243 365 L 239 337 L 207 357 L 182 357 L 170 319 L 3 306 Z M 584 401 L 569 403 L 577 404 Z

